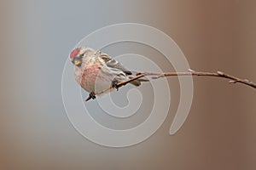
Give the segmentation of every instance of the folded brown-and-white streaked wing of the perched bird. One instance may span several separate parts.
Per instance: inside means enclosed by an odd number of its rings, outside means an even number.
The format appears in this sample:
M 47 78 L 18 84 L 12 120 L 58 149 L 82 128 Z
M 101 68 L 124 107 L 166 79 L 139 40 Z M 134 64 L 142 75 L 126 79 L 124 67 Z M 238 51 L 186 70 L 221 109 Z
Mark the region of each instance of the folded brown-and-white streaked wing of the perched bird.
M 131 71 L 125 69 L 125 67 L 120 64 L 117 60 L 113 59 L 112 57 L 108 56 L 108 54 L 104 54 L 101 51 L 97 52 L 97 55 L 103 59 L 108 67 L 118 69 L 120 71 L 125 72 L 126 75 L 131 75 Z

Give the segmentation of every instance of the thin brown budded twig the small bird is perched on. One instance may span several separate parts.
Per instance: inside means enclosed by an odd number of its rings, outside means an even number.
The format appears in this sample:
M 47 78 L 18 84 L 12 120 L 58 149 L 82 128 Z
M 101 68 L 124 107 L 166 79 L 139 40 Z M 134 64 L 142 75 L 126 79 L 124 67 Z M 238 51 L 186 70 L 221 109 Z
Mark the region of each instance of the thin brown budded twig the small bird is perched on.
M 191 69 L 189 69 L 188 72 L 147 72 L 147 71 L 143 71 L 143 72 L 138 72 L 137 73 L 137 77 L 133 77 L 130 80 L 127 80 L 125 82 L 119 82 L 117 84 L 117 87 L 120 88 L 122 86 L 125 86 L 127 83 L 135 81 L 139 78 L 142 77 L 151 77 L 153 79 L 158 79 L 160 77 L 175 77 L 175 76 L 202 76 L 202 77 L 222 77 L 222 78 L 226 78 L 226 79 L 230 79 L 229 83 L 242 83 L 245 84 L 247 86 L 250 86 L 252 88 L 256 89 L 256 84 L 254 82 L 249 82 L 247 79 L 241 79 L 238 77 L 234 77 L 234 76 L 230 76 L 222 71 L 217 71 L 217 72 L 201 72 L 201 71 L 193 71 Z M 111 90 L 113 87 L 109 87 L 105 90 L 102 90 L 102 92 L 99 92 L 97 94 L 103 94 L 106 93 L 108 90 Z

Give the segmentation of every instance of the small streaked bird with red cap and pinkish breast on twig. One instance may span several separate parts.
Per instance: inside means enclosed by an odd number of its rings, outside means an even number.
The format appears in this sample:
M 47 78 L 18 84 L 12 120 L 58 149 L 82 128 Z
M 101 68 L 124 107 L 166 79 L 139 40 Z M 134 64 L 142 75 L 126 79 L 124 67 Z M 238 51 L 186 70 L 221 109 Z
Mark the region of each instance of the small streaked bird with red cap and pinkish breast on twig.
M 96 99 L 96 94 L 106 94 L 113 88 L 118 90 L 119 82 L 135 77 L 132 71 L 125 69 L 118 61 L 99 50 L 88 47 L 74 48 L 69 58 L 74 65 L 75 80 L 81 88 L 90 93 L 86 101 Z M 139 86 L 141 82 L 148 80 L 139 78 L 130 83 Z

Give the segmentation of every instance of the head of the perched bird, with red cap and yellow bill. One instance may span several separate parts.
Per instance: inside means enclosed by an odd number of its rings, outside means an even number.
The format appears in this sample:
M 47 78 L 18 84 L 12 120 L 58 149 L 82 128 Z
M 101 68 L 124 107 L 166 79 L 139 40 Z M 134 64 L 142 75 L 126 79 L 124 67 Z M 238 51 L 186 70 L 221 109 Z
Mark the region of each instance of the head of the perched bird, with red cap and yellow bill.
M 84 48 L 75 48 L 69 55 L 69 59 L 73 65 L 81 66 L 83 62 L 83 57 L 85 54 Z

